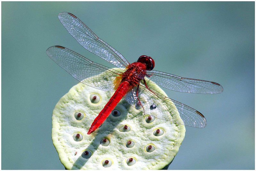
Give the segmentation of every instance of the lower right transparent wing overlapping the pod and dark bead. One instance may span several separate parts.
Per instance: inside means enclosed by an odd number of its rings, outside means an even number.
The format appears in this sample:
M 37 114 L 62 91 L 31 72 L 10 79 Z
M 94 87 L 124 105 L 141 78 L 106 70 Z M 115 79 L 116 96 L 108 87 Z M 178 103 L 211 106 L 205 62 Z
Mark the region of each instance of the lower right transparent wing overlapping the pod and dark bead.
M 197 110 L 184 105 L 180 102 L 170 99 L 165 95 L 159 93 L 155 89 L 148 87 L 148 90 L 143 84 L 140 84 L 138 97 L 143 105 L 144 111 L 140 105 L 138 105 L 138 99 L 136 97 L 137 87 L 133 88 L 124 97 L 125 100 L 138 110 L 141 110 L 146 115 L 154 115 L 158 119 L 171 121 L 177 124 L 182 124 L 190 127 L 204 128 L 206 126 L 206 119 L 204 115 Z M 152 108 L 151 105 L 156 105 L 156 108 Z M 173 113 L 180 113 L 180 118 Z

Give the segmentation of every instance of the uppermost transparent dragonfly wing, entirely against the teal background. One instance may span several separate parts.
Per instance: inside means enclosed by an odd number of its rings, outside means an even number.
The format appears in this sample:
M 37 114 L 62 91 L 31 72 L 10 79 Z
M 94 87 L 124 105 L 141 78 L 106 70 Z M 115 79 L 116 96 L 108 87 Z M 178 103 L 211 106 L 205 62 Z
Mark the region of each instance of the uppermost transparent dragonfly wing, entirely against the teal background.
M 60 22 L 85 49 L 105 59 L 118 68 L 130 63 L 118 51 L 97 37 L 80 19 L 68 12 L 58 15 Z

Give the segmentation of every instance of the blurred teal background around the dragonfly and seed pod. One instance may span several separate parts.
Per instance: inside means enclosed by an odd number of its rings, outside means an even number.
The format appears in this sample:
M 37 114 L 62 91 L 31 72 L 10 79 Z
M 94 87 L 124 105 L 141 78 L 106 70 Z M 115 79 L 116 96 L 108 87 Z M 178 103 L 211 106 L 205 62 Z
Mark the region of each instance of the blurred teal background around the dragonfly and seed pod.
M 78 82 L 45 53 L 67 47 L 106 66 L 67 32 L 70 12 L 130 62 L 220 83 L 217 95 L 169 97 L 204 114 L 169 169 L 254 169 L 254 2 L 2 2 L 2 169 L 64 169 L 52 110 Z M 113 67 L 113 66 L 111 66 Z

